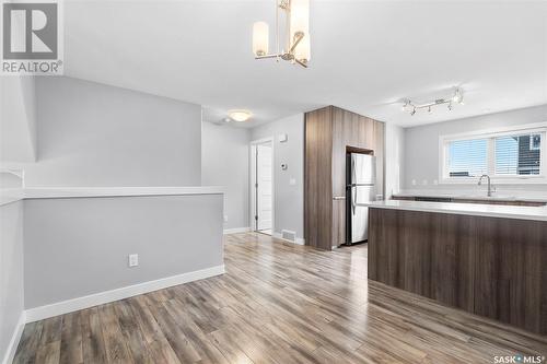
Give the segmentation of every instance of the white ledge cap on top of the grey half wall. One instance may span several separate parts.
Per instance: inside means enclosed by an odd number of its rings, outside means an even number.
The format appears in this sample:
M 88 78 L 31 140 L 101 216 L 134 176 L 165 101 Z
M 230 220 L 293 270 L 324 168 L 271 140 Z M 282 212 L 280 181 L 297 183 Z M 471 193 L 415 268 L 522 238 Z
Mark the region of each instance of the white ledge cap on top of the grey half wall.
M 177 196 L 224 193 L 218 186 L 188 187 L 48 187 L 0 189 L 0 206 L 22 199 L 84 197 Z

